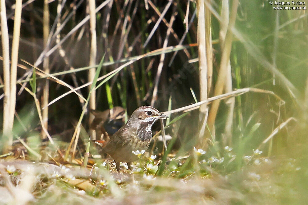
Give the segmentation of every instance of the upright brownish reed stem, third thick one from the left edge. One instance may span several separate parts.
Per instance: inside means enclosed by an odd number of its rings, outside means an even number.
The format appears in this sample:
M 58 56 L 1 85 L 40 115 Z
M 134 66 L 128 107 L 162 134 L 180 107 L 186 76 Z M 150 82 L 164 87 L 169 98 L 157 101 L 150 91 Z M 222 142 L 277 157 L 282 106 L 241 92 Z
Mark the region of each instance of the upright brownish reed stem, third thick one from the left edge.
M 49 14 L 49 6 L 48 6 L 48 0 L 44 0 L 44 6 L 43 6 L 43 41 L 44 41 L 44 49 L 49 49 L 48 44 L 48 36 L 49 36 L 49 22 L 50 14 Z M 45 73 L 49 74 L 49 57 L 45 57 L 43 61 L 43 70 Z M 44 87 L 43 87 L 43 96 L 41 98 L 42 102 L 42 108 L 45 107 L 48 104 L 49 100 L 49 80 L 45 79 Z M 42 118 L 43 118 L 43 124 L 46 129 L 48 129 L 48 108 L 43 109 L 42 111 Z M 42 139 L 46 139 L 46 133 L 44 130 L 41 131 L 41 137 Z

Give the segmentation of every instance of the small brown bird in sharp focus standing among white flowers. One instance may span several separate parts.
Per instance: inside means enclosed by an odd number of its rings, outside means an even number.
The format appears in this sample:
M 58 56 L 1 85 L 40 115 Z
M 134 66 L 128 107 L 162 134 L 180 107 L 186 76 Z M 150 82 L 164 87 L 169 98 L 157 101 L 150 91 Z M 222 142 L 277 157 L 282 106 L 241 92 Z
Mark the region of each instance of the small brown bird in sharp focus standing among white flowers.
M 130 162 L 138 159 L 132 153 L 136 150 L 147 150 L 152 139 L 152 125 L 158 119 L 168 118 L 153 107 L 141 106 L 137 108 L 109 141 L 92 140 L 103 147 L 103 152 L 110 155 L 116 161 L 116 168 L 120 171 L 120 162 Z

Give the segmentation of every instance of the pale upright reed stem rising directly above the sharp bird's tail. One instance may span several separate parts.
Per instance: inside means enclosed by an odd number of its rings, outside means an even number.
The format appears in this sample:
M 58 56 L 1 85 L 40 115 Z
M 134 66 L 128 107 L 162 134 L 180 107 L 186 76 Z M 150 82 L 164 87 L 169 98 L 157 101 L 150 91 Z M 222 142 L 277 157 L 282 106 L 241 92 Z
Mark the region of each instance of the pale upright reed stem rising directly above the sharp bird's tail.
M 95 16 L 95 0 L 88 0 L 89 3 L 89 12 L 90 12 L 90 32 L 91 32 L 91 47 L 90 47 L 90 60 L 89 60 L 89 66 L 96 65 L 96 16 Z M 88 70 L 88 81 L 93 82 L 95 76 L 95 68 L 91 68 Z M 90 90 L 91 86 L 88 87 Z M 95 110 L 95 90 L 91 92 L 91 96 L 89 99 L 89 107 L 93 110 Z M 92 114 L 89 115 L 89 124 L 92 123 L 94 120 L 94 116 Z M 96 139 L 95 131 L 90 131 L 92 139 Z

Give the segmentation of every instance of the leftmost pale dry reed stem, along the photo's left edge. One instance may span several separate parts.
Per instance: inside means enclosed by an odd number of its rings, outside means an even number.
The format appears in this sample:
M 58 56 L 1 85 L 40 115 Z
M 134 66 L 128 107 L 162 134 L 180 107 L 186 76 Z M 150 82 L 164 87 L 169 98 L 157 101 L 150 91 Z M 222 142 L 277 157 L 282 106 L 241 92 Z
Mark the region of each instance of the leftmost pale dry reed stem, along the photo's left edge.
M 3 135 L 8 137 L 4 140 L 3 152 L 8 152 L 12 140 L 13 124 L 10 124 L 10 51 L 9 51 L 9 33 L 6 23 L 6 7 L 5 0 L 0 0 L 0 20 L 1 20 L 1 40 L 2 40 L 2 56 L 3 56 L 3 83 L 4 83 L 4 99 L 3 99 Z

